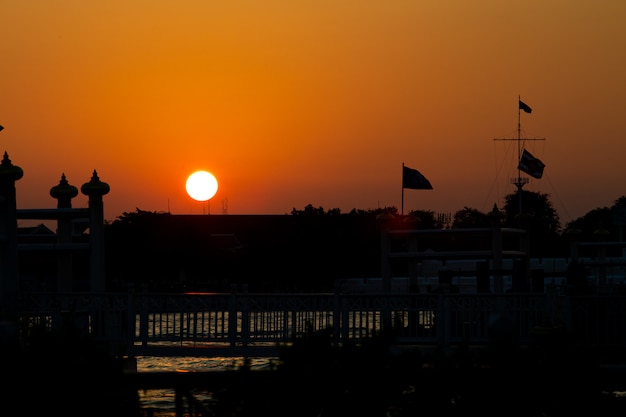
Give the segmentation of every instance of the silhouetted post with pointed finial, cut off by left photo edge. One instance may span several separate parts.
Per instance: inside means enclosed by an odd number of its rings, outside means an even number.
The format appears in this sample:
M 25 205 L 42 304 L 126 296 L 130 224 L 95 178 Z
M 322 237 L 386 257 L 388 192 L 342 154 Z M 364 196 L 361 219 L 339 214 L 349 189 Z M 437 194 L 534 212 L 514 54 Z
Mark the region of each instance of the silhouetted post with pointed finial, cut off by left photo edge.
M 11 316 L 17 313 L 19 294 L 15 181 L 23 176 L 5 151 L 0 163 L 0 309 Z

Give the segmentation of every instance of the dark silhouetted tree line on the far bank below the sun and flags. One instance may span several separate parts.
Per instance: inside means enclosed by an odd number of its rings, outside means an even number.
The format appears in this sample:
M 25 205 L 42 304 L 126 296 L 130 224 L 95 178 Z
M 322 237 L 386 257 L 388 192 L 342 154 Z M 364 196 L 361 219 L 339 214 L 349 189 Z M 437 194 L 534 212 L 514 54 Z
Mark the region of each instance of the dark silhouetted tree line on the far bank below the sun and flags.
M 380 277 L 383 219 L 415 229 L 483 228 L 497 222 L 527 230 L 530 256 L 549 258 L 569 256 L 574 239 L 621 241 L 625 211 L 622 196 L 612 207 L 562 226 L 549 195 L 530 191 L 507 195 L 501 209 L 463 207 L 454 215 L 414 210 L 400 216 L 394 206 L 342 213 L 312 204 L 290 215 L 259 216 L 136 209 L 105 225 L 106 276 L 112 289 L 133 283 L 155 291 L 230 291 L 233 286 L 331 291 L 339 279 Z

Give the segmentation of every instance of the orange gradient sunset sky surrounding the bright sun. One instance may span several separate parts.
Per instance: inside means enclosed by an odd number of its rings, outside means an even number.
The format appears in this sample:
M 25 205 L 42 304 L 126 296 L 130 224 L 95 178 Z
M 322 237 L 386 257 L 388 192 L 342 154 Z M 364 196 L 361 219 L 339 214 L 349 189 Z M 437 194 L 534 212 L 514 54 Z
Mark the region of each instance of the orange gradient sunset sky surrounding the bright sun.
M 626 194 L 624 0 L 0 0 L 0 143 L 18 208 L 64 173 L 105 218 L 484 212 L 524 188 L 562 224 Z M 496 141 L 496 138 L 511 138 Z M 402 163 L 433 190 L 404 190 Z M 218 179 L 209 203 L 187 176 Z M 86 207 L 79 194 L 74 207 Z

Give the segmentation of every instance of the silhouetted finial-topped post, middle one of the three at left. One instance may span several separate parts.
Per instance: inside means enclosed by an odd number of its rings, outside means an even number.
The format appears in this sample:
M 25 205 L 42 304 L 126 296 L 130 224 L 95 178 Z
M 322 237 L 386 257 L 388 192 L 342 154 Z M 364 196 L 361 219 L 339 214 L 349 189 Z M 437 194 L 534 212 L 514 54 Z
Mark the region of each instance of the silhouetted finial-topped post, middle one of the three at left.
M 78 188 L 70 185 L 61 175 L 59 185 L 50 189 L 50 196 L 58 200 L 58 209 L 71 209 L 72 198 L 78 195 Z M 57 217 L 57 241 L 61 244 L 72 242 L 72 220 L 70 216 L 59 213 Z M 63 250 L 57 257 L 57 292 L 72 291 L 72 252 Z

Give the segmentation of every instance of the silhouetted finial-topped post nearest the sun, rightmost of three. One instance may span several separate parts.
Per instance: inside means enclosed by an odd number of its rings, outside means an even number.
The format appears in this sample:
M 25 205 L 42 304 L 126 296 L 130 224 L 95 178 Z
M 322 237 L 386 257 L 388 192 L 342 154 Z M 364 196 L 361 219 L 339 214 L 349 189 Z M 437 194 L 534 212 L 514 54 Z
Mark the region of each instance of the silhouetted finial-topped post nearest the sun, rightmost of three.
M 80 187 L 80 192 L 89 197 L 89 246 L 91 248 L 91 292 L 102 293 L 104 281 L 104 205 L 102 196 L 110 191 L 109 184 L 100 181 L 93 170 L 91 181 Z

